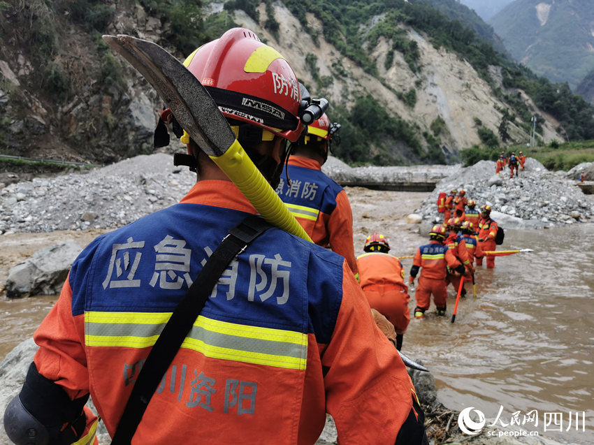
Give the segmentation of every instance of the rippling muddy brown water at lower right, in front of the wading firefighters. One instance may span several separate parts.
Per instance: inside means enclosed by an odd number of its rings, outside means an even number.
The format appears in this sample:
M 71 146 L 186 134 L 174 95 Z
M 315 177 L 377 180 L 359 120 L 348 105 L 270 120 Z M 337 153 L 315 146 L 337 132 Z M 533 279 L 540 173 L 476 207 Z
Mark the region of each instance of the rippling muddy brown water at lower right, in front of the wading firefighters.
M 447 407 L 474 407 L 487 425 L 501 410 L 500 427 L 537 410 L 538 425 L 522 425 L 529 432 L 594 443 L 593 237 L 593 224 L 508 230 L 502 250 L 534 252 L 477 269 L 477 297 L 467 284 L 453 324 L 454 296 L 445 318 L 432 303 L 426 319 L 411 320 L 403 351 L 430 368 Z

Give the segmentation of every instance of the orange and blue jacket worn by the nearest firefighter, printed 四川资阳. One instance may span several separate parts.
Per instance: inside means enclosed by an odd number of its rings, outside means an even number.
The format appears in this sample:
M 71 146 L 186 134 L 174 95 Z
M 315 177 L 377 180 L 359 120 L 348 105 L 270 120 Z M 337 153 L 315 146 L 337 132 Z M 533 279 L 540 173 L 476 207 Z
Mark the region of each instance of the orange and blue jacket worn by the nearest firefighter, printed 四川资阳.
M 96 238 L 36 330 L 38 372 L 71 399 L 90 392 L 113 435 L 191 280 L 254 213 L 230 182 L 201 181 L 181 203 Z M 339 442 L 393 445 L 413 397 L 344 258 L 270 228 L 217 282 L 132 444 L 313 444 L 328 412 Z

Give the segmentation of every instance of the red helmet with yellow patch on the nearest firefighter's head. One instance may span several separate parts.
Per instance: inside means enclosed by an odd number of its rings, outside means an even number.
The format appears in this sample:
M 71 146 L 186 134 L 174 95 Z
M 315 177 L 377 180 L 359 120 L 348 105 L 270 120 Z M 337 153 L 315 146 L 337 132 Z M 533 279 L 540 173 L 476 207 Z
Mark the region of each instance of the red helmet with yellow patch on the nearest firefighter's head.
M 229 29 L 192 52 L 184 66 L 200 80 L 225 117 L 259 126 L 291 142 L 305 128 L 299 120 L 297 76 L 277 50 L 249 29 Z

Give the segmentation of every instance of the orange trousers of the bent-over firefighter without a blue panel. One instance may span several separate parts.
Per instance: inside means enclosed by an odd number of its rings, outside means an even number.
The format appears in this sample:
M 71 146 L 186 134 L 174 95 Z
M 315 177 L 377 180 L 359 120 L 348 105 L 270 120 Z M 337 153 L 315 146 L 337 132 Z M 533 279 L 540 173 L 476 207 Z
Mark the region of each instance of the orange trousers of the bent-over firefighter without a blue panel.
M 404 334 L 410 322 L 410 309 L 406 286 L 400 284 L 370 284 L 363 293 L 372 309 L 377 310 L 394 325 L 397 334 Z

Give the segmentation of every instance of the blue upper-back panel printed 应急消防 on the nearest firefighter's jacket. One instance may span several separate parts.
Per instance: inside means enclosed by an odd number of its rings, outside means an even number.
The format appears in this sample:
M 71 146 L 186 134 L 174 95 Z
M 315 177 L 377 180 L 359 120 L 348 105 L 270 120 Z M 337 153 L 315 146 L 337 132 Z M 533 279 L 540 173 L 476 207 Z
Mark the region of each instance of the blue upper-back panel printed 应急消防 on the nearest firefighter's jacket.
M 73 264 L 73 314 L 173 312 L 229 228 L 246 216 L 183 203 L 101 235 Z M 231 261 L 202 314 L 329 340 L 342 300 L 342 261 L 271 228 Z

